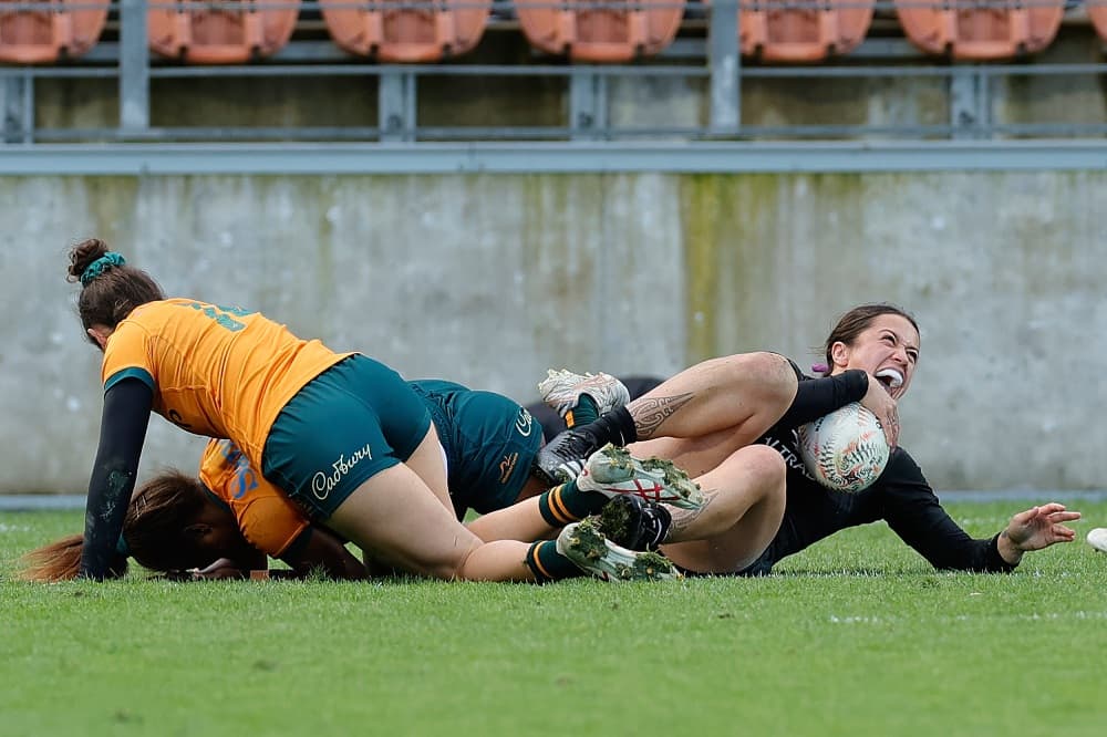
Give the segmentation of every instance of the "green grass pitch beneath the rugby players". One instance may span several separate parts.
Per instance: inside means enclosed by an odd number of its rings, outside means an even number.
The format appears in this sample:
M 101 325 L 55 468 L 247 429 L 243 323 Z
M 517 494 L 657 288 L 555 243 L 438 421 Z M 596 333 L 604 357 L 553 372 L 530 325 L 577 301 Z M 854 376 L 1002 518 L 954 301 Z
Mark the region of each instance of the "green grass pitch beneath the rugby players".
M 992 534 L 1021 502 L 950 505 Z M 759 580 L 14 582 L 81 512 L 0 513 L 0 735 L 1107 734 L 1107 556 L 938 573 L 883 525 Z

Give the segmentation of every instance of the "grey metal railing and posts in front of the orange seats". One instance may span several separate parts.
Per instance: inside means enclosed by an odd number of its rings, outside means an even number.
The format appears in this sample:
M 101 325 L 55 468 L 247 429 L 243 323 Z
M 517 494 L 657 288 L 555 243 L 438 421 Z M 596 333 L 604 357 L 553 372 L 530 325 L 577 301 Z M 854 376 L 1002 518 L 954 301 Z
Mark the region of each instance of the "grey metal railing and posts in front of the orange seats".
M 907 2 L 909 0 L 903 0 Z M 933 4 L 915 0 L 920 4 Z M 900 4 L 902 6 L 903 2 Z M 1107 0 L 1094 0 L 1096 4 Z M 1056 7 L 1057 0 L 1027 0 L 1031 4 Z M 0 11 L 41 10 L 43 3 L 2 3 Z M 104 7 L 91 2 L 90 6 Z M 86 58 L 48 66 L 2 66 L 3 139 L 8 144 L 74 142 L 241 142 L 241 141 L 332 141 L 416 143 L 451 141 L 634 141 L 675 137 L 689 141 L 751 138 L 993 138 L 999 136 L 1088 137 L 1107 134 L 1107 123 L 1055 120 L 1032 123 L 996 121 L 992 114 L 994 82 L 1000 77 L 1062 76 L 1098 77 L 1107 73 L 1105 63 L 950 63 L 921 55 L 900 39 L 870 39 L 852 55 L 816 65 L 766 66 L 744 62 L 739 50 L 738 3 L 722 0 L 710 4 L 684 3 L 706 20 L 705 39 L 680 39 L 669 53 L 649 63 L 562 64 L 535 59 L 532 63 L 433 63 L 376 64 L 352 56 L 333 44 L 293 41 L 271 60 L 250 64 L 211 66 L 179 65 L 158 60 L 148 50 L 146 14 L 154 0 L 118 0 L 110 4 L 118 22 L 117 42 L 102 42 Z M 179 3 L 159 3 L 177 6 Z M 272 4 L 272 3 L 267 3 Z M 302 2 L 306 11 L 324 3 Z M 325 3 L 342 4 L 339 0 Z M 365 3 L 349 2 L 351 6 Z M 399 3 L 393 3 L 399 4 Z M 427 0 L 405 7 L 442 8 Z M 510 9 L 509 2 L 479 3 Z M 561 3 L 555 3 L 560 6 Z M 604 3 L 589 3 L 602 7 Z M 625 3 L 609 3 L 622 9 Z M 891 2 L 859 3 L 878 10 L 893 9 Z M 1007 7 L 1010 2 L 982 0 L 966 7 Z M 256 3 L 213 2 L 206 9 L 240 9 Z M 836 3 L 844 7 L 844 3 Z M 951 3 L 946 6 L 952 7 Z M 56 4 L 51 4 L 56 7 Z M 76 6 L 70 6 L 75 8 Z M 392 6 L 390 6 L 392 7 Z M 456 6 L 455 6 L 456 7 Z M 651 7 L 656 7 L 651 6 Z M 796 0 L 789 8 L 825 8 L 826 2 Z M 151 121 L 151 82 L 183 77 L 376 77 L 376 120 L 352 126 L 155 126 Z M 567 85 L 568 116 L 562 125 L 477 126 L 421 124 L 417 120 L 420 81 L 431 76 L 555 77 Z M 666 125 L 649 121 L 633 125 L 611 123 L 612 80 L 679 77 L 700 80 L 707 100 L 705 120 L 694 125 Z M 799 79 L 814 83 L 827 80 L 932 79 L 944 84 L 948 120 L 941 123 L 903 124 L 789 124 L 752 125 L 743 122 L 742 90 L 747 81 Z M 54 79 L 112 79 L 117 82 L 118 121 L 115 126 L 41 127 L 35 121 L 35 82 Z M 1061 111 L 1064 114 L 1067 111 Z

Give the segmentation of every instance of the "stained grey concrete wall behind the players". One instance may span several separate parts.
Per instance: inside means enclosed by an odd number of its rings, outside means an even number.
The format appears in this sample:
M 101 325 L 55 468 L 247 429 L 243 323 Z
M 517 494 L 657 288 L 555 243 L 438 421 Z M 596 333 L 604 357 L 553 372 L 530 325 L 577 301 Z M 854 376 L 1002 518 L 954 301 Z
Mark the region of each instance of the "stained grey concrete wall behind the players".
M 850 305 L 923 328 L 902 442 L 939 488 L 1101 488 L 1107 173 L 0 178 L 0 491 L 80 492 L 100 353 L 66 248 L 410 377 L 815 357 Z M 144 473 L 201 442 L 159 418 Z

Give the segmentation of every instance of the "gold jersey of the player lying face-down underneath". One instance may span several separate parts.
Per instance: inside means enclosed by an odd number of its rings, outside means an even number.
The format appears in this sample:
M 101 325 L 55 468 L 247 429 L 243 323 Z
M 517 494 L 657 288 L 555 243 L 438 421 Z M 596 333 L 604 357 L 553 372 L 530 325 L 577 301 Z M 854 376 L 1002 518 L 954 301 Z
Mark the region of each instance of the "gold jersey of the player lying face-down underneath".
M 280 558 L 309 525 L 230 440 L 208 443 L 200 459 L 200 481 L 230 508 L 242 537 L 272 558 Z

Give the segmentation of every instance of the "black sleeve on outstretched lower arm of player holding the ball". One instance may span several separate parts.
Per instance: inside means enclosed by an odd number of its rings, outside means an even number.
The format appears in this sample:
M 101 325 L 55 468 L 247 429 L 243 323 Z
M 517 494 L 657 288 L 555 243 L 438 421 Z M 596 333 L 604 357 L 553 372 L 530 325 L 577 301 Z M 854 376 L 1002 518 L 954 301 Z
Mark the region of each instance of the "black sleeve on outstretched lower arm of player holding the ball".
M 999 536 L 972 538 L 950 518 L 907 451 L 892 451 L 878 484 L 888 526 L 934 568 L 983 573 L 1015 569 L 1000 556 Z

